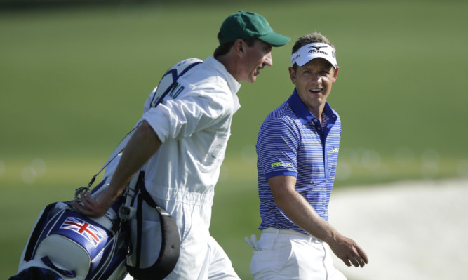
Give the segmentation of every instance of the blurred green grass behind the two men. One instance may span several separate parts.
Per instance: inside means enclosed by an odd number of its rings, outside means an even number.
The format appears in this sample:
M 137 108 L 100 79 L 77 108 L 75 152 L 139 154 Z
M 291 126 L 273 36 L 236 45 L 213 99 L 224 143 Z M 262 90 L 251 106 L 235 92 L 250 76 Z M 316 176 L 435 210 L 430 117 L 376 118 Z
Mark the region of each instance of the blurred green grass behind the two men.
M 0 11 L 1 279 L 15 273 L 41 208 L 88 183 L 163 72 L 211 55 L 220 23 L 239 9 L 293 41 L 319 31 L 337 47 L 337 187 L 468 174 L 467 3 L 158 3 Z M 251 253 L 243 237 L 260 222 L 255 140 L 293 90 L 292 46 L 274 48 L 274 66 L 243 84 L 217 186 L 211 232 L 242 279 Z

